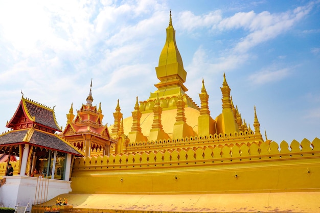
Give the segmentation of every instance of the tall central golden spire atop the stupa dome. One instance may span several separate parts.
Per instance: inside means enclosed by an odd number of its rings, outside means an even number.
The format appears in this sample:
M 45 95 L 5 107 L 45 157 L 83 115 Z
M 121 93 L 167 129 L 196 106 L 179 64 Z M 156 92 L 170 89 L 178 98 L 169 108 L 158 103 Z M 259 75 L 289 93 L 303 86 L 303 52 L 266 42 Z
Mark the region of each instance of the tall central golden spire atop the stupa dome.
M 172 97 L 178 96 L 179 92 L 184 94 L 188 91 L 184 85 L 187 72 L 184 69 L 184 63 L 182 63 L 182 58 L 175 42 L 175 30 L 172 26 L 171 11 L 169 26 L 166 31 L 166 43 L 161 51 L 159 64 L 155 67 L 156 75 L 160 82 L 155 84 L 158 90 L 151 93 L 150 99 L 155 99 L 156 93 L 159 93 L 159 97 Z

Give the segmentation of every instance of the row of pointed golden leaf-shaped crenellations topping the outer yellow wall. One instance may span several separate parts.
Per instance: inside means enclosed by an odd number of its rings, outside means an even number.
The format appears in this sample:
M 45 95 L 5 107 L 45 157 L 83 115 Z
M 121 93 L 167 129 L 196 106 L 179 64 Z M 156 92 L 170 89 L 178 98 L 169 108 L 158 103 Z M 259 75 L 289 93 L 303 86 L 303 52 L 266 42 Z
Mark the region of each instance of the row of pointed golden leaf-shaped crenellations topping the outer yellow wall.
M 303 139 L 301 143 L 293 140 L 289 146 L 282 141 L 280 146 L 275 141 L 263 143 L 218 144 L 213 146 L 168 149 L 163 151 L 143 151 L 112 154 L 110 156 L 77 158 L 74 170 L 86 169 L 132 169 L 150 168 L 174 165 L 188 167 L 189 165 L 234 164 L 246 162 L 274 162 L 290 159 L 320 157 L 320 139 L 312 143 Z M 271 164 L 270 164 L 271 165 Z

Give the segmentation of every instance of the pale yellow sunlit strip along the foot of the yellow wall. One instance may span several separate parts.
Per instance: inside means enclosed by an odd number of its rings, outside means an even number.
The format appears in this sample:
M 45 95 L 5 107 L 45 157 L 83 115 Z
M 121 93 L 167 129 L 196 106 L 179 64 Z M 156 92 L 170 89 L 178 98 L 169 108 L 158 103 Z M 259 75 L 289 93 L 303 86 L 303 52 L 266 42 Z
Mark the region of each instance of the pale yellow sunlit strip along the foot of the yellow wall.
M 320 212 L 320 192 L 127 195 L 64 194 L 73 208 L 174 212 Z M 55 199 L 47 202 L 54 205 Z

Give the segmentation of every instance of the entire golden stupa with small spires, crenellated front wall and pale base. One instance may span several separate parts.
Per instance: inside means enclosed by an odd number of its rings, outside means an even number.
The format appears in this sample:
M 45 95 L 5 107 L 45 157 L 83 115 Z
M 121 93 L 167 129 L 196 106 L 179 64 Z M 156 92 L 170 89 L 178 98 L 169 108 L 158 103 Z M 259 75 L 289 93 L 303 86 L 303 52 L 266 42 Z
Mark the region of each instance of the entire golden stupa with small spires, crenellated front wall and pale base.
M 320 140 L 264 141 L 256 108 L 251 129 L 232 101 L 225 74 L 221 114 L 211 116 L 204 80 L 197 106 L 184 86 L 187 72 L 171 14 L 155 70 L 157 90 L 145 101 L 136 97 L 132 116 L 123 118 L 118 100 L 108 127 L 118 143 L 111 145 L 110 155 L 75 160 L 72 194 L 64 195 L 74 207 L 110 212 L 320 211 Z

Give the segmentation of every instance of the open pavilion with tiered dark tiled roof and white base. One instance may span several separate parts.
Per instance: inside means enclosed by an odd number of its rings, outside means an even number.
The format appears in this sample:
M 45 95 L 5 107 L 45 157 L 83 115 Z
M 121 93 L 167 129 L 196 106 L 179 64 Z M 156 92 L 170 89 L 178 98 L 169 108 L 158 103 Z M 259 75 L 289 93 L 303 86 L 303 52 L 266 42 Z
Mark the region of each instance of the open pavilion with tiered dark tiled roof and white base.
M 0 135 L 0 152 L 9 156 L 8 159 L 19 157 L 19 161 L 7 160 L 1 164 L 0 171 L 4 174 L 9 163 L 14 173 L 3 179 L 2 184 L 5 184 L 0 187 L 0 203 L 12 207 L 18 202 L 34 204 L 35 197 L 39 198 L 39 177 L 50 184 L 50 187 L 43 188 L 42 181 L 42 190 L 50 191 L 50 194 L 47 198 L 41 196 L 40 202 L 70 192 L 74 158 L 83 155 L 55 134 L 62 130 L 57 124 L 54 109 L 26 99 L 22 94 L 6 127 L 11 131 Z

